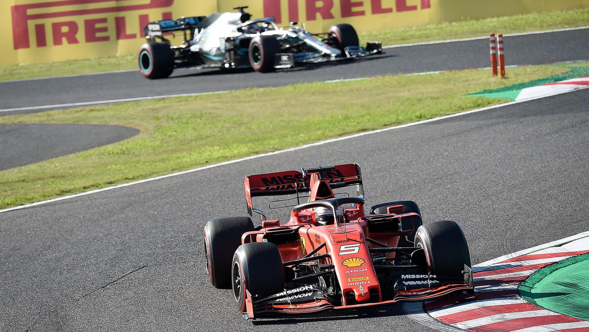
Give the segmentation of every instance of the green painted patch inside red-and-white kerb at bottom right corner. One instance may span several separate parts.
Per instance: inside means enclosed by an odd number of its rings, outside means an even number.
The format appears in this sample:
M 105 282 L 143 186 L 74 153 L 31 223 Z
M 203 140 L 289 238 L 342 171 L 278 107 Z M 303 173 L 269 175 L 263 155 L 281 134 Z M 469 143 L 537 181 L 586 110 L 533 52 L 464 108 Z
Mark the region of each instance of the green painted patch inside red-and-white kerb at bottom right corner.
M 540 269 L 519 285 L 537 307 L 589 321 L 589 253 Z

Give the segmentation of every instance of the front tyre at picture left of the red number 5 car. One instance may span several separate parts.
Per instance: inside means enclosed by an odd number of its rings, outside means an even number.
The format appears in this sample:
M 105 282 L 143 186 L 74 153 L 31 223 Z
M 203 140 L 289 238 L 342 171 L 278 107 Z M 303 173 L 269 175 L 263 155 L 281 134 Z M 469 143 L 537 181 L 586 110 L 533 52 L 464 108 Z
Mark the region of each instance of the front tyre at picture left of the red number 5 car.
M 284 291 L 284 267 L 271 242 L 240 245 L 233 256 L 231 282 L 240 313 L 246 311 L 246 290 L 258 299 Z

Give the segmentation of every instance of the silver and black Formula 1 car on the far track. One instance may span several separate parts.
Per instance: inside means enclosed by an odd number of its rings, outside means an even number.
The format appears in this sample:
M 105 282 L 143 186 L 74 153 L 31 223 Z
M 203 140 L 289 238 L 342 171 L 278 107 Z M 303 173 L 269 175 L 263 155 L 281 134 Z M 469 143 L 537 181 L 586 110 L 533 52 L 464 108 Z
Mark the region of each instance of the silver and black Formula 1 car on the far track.
M 147 42 L 139 48 L 138 64 L 147 78 L 170 76 L 174 68 L 253 68 L 267 73 L 290 68 L 382 53 L 380 42 L 358 44 L 358 34 L 349 24 L 337 24 L 329 31 L 312 34 L 305 24 L 279 28 L 273 17 L 251 19 L 239 6 L 237 12 L 214 13 L 206 17 L 181 17 L 150 22 L 144 28 Z M 166 38 L 182 33 L 181 45 Z

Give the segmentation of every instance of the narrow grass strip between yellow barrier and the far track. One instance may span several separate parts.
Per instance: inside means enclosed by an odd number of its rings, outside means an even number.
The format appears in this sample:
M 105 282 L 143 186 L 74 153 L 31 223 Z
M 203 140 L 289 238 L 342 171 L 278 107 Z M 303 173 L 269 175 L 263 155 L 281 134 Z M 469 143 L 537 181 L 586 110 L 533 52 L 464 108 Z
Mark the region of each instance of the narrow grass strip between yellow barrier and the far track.
M 397 45 L 411 42 L 480 37 L 488 35 L 490 32 L 513 34 L 517 32 L 584 27 L 589 25 L 588 17 L 589 8 L 584 8 L 362 32 L 359 37 L 361 44 L 369 40 L 380 40 L 383 45 Z M 139 45 L 137 45 L 138 47 Z M 137 59 L 135 54 L 57 63 L 9 65 L 0 67 L 0 81 L 136 68 Z

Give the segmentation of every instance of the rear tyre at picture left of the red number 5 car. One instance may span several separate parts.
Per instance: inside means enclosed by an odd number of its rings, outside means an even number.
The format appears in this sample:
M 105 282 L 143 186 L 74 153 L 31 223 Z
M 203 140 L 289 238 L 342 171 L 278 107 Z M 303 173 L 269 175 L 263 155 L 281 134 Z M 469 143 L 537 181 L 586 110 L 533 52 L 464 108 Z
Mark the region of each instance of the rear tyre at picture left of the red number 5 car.
M 230 287 L 233 254 L 241 245 L 241 235 L 253 230 L 249 217 L 214 219 L 204 226 L 204 258 L 213 287 Z

